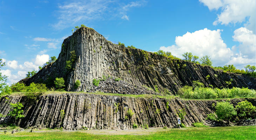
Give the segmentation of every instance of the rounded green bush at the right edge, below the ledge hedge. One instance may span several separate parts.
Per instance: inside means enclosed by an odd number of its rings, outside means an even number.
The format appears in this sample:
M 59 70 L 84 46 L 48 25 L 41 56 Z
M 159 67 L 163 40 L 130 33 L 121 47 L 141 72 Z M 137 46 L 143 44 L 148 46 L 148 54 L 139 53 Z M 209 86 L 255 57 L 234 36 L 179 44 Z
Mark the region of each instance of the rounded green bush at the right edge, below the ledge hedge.
M 237 117 L 239 119 L 256 118 L 256 107 L 247 100 L 238 103 L 235 107 L 235 110 L 237 111 Z

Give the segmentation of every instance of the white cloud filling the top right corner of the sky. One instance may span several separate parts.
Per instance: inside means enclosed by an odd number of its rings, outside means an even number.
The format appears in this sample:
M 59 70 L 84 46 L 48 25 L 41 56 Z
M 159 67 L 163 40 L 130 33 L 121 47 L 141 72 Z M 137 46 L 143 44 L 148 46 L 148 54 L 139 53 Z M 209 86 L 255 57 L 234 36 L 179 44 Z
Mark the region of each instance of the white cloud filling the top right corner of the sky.
M 221 7 L 221 13 L 217 15 L 214 25 L 221 23 L 228 25 L 229 23 L 241 23 L 249 18 L 245 27 L 255 31 L 256 1 L 255 0 L 199 0 L 211 9 Z

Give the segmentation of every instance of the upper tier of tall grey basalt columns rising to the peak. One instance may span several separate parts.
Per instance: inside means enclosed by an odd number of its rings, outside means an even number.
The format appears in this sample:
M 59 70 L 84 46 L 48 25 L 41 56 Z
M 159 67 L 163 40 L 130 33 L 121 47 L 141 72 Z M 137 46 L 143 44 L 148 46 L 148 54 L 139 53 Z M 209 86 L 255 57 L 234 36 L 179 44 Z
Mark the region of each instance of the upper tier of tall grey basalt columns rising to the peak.
M 68 61 L 70 69 L 66 68 Z M 52 86 L 56 77 L 63 77 L 67 91 L 86 91 L 92 87 L 93 79 L 108 75 L 136 86 L 143 85 L 152 89 L 158 87 L 160 92 L 167 89 L 174 94 L 181 87 L 192 85 L 193 80 L 199 80 L 206 87 L 213 85 L 218 88 L 234 86 L 256 89 L 256 78 L 122 47 L 107 41 L 94 29 L 87 27 L 76 30 L 63 41 L 57 61 L 20 82 L 27 85 L 44 82 Z M 206 78 L 208 75 L 210 77 Z M 77 89 L 74 86 L 76 80 L 81 82 Z M 232 81 L 231 85 L 226 81 Z

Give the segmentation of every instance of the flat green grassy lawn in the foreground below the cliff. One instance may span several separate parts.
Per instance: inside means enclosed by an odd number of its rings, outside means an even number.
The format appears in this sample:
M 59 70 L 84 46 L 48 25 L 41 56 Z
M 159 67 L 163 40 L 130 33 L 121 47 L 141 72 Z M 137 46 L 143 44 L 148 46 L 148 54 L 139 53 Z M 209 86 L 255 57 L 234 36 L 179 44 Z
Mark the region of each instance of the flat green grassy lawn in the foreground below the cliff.
M 99 130 L 100 131 L 100 130 Z M 122 131 L 122 130 L 120 130 Z M 138 130 L 140 131 L 140 130 Z M 119 131 L 116 131 L 118 134 Z M 129 133 L 129 132 L 128 132 Z M 170 139 L 206 139 L 206 140 L 255 140 L 256 126 L 232 126 L 232 127 L 186 127 L 185 129 L 169 128 L 167 130 L 160 129 L 150 134 L 137 135 L 104 135 L 104 134 L 88 134 L 86 131 L 75 132 L 0 132 L 0 140 L 170 140 Z

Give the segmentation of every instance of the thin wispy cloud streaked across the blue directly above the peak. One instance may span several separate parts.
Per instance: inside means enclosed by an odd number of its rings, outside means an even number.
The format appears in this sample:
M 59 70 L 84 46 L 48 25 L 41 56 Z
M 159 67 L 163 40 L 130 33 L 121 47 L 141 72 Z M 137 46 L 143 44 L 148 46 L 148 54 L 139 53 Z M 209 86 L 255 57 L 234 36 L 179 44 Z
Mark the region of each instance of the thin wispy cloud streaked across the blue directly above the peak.
M 57 10 L 56 16 L 59 21 L 52 26 L 54 29 L 64 29 L 70 26 L 80 25 L 81 23 L 88 24 L 97 19 L 102 21 L 116 16 L 127 20 L 127 11 L 130 8 L 140 7 L 146 3 L 144 0 L 130 2 L 128 4 L 123 4 L 122 2 L 124 1 L 87 0 L 65 3 L 58 7 L 59 10 Z M 113 7 L 115 3 L 123 6 L 119 8 Z

